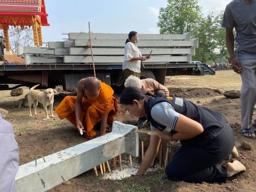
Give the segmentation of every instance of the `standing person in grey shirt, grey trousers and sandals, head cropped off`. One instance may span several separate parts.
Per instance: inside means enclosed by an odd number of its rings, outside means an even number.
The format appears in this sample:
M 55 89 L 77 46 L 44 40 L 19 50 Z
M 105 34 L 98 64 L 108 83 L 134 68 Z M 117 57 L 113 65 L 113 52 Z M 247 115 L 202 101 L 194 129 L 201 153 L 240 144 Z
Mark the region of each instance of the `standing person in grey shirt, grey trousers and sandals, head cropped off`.
M 226 28 L 229 59 L 235 73 L 241 74 L 242 132 L 255 138 L 252 127 L 253 107 L 256 100 L 256 0 L 234 0 L 226 6 L 222 27 Z M 234 38 L 233 29 L 236 30 Z M 237 42 L 237 57 L 234 53 Z

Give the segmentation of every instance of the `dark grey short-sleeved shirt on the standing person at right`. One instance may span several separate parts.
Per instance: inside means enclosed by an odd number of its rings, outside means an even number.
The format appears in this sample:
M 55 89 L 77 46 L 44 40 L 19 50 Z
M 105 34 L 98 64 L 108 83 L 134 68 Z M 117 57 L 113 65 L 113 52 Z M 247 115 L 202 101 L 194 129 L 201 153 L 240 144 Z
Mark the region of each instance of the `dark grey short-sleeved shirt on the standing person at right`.
M 256 0 L 233 0 L 225 9 L 222 27 L 236 29 L 237 59 L 256 59 Z

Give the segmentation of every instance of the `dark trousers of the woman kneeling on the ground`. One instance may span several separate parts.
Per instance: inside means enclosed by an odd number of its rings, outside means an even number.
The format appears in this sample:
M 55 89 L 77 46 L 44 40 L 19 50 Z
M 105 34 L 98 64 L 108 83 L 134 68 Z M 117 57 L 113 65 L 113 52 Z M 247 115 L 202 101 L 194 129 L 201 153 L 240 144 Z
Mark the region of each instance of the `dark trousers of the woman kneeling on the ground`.
M 165 169 L 173 181 L 225 182 L 227 170 L 221 163 L 235 145 L 233 131 L 227 123 L 223 131 L 205 146 L 181 145 Z

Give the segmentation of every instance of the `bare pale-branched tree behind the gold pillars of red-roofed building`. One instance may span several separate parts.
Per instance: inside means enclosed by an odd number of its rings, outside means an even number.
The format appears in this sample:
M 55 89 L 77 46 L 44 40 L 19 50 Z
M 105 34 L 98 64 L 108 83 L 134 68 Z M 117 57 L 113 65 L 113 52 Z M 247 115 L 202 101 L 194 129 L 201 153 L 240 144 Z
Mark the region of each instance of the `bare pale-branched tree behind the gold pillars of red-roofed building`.
M 1 35 L 3 36 L 3 31 L 1 31 Z M 13 53 L 18 51 L 18 43 L 23 46 L 34 45 L 33 29 L 28 27 L 23 29 L 14 27 L 13 29 L 9 29 L 9 41 L 10 49 Z

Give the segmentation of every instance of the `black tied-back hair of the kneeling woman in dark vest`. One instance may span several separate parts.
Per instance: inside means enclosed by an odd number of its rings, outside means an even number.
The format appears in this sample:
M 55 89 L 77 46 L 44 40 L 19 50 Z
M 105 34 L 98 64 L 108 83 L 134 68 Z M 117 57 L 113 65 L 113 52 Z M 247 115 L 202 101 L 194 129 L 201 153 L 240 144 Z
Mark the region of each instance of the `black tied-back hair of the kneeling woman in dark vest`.
M 133 100 L 142 100 L 146 98 L 146 95 L 153 96 L 153 94 L 150 94 L 146 91 L 142 91 L 135 87 L 126 87 L 119 98 L 119 102 L 124 105 L 132 105 Z

